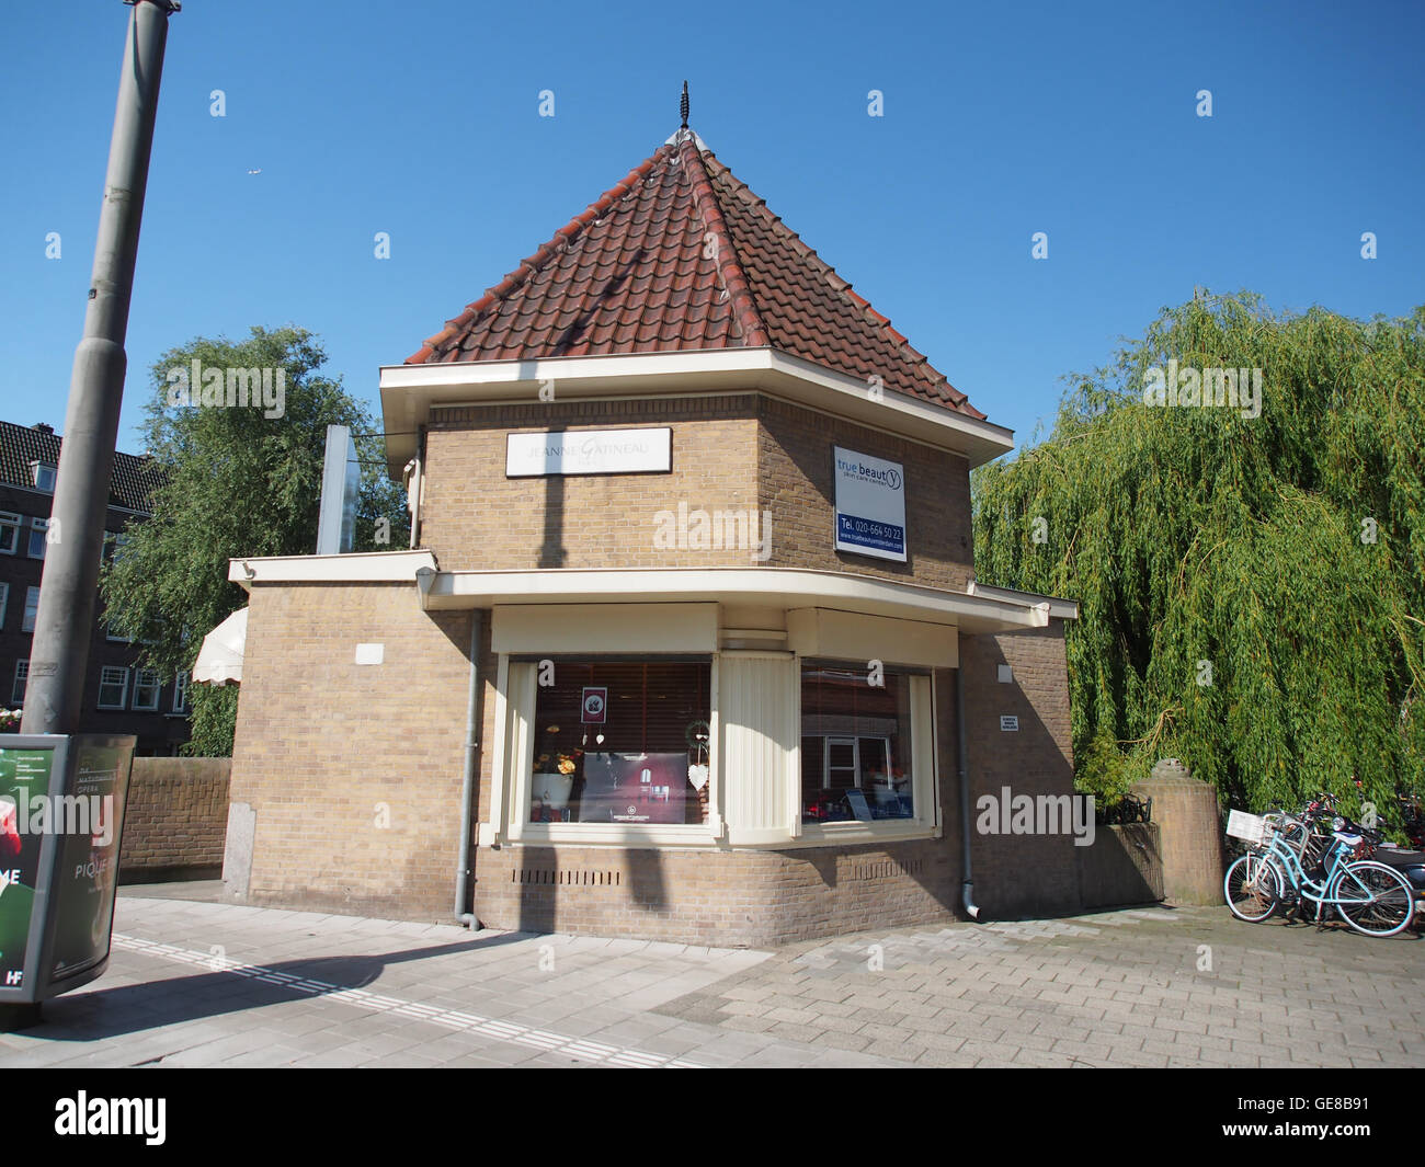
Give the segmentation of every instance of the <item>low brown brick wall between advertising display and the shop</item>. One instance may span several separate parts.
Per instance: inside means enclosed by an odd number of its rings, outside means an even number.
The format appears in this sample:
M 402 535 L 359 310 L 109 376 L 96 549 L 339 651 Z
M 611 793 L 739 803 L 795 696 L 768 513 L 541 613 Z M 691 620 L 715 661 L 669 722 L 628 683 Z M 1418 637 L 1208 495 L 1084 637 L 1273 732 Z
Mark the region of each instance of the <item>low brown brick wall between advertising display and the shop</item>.
M 214 879 L 222 869 L 231 758 L 134 758 L 121 883 Z

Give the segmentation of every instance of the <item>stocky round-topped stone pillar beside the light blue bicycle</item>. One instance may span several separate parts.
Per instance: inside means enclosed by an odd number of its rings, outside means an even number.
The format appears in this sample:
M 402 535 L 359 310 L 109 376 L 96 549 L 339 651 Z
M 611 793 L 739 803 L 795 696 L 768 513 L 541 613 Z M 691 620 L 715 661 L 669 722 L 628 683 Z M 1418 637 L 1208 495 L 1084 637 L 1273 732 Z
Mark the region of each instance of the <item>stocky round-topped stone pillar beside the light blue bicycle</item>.
M 1170 903 L 1221 903 L 1223 828 L 1217 791 L 1188 774 L 1177 758 L 1163 758 L 1133 794 L 1153 799 L 1161 831 L 1163 891 Z

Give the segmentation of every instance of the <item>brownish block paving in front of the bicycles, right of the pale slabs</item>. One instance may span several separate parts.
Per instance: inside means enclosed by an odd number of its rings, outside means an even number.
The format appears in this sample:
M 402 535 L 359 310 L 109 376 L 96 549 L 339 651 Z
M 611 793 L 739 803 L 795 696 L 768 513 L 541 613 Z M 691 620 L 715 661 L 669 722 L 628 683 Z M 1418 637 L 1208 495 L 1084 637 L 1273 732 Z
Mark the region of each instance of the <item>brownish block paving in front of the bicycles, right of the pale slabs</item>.
M 865 933 L 658 1012 L 922 1066 L 1422 1066 L 1425 942 L 1226 908 Z

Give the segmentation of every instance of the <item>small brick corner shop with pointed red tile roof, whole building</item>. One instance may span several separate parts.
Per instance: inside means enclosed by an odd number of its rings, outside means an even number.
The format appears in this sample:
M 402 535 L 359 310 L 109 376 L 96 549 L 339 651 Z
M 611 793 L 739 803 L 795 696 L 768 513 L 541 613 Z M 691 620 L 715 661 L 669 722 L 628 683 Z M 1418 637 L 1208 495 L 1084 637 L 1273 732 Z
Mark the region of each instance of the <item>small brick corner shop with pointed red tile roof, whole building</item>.
M 695 134 L 380 389 L 413 550 L 232 563 L 231 898 L 701 943 L 1077 908 L 1066 835 L 966 814 L 1072 788 L 1076 608 L 973 576 L 1010 432 Z

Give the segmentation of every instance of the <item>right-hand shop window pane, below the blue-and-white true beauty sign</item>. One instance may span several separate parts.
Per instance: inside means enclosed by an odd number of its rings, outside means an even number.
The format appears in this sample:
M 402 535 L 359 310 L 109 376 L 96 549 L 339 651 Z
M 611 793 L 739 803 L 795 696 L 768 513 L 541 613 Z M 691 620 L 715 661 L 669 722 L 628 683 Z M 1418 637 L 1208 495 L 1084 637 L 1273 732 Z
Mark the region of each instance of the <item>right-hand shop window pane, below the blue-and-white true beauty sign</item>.
M 802 822 L 915 818 L 903 671 L 802 665 Z

